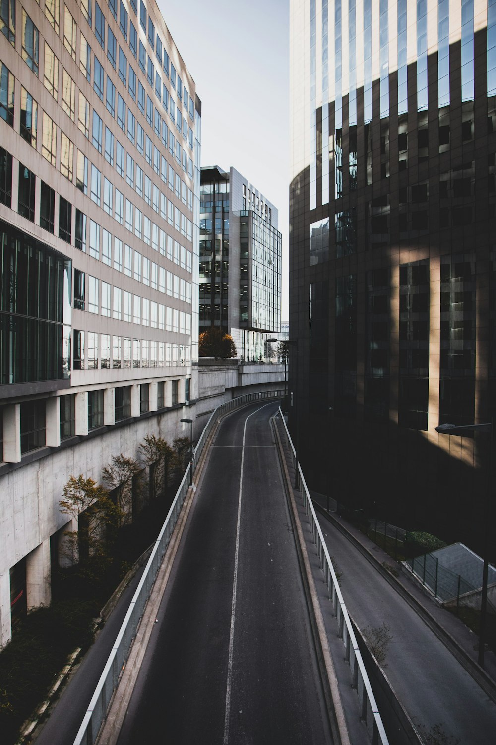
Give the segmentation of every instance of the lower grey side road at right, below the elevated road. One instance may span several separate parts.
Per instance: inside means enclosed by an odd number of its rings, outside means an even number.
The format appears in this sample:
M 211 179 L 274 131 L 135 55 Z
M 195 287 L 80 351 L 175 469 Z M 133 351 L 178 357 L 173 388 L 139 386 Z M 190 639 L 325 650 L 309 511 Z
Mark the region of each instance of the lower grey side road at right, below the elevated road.
M 427 729 L 442 723 L 463 743 L 492 744 L 495 704 L 379 571 L 325 516 L 319 519 L 350 615 L 361 630 L 390 627 L 386 674 L 410 717 Z

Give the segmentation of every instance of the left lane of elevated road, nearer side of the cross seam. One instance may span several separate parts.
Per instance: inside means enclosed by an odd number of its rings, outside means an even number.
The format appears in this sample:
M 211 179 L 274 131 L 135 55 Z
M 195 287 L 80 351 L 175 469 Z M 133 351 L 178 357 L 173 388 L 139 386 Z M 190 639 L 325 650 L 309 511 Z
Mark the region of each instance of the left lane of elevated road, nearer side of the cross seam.
M 241 448 L 212 448 L 119 745 L 222 742 Z

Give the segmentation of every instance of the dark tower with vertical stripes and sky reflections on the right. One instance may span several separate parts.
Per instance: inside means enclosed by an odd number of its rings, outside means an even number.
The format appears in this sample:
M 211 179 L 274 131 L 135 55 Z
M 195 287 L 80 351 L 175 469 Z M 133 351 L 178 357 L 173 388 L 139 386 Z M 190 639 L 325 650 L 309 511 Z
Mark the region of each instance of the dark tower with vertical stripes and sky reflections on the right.
M 309 483 L 477 543 L 486 443 L 435 427 L 495 409 L 496 4 L 292 0 L 291 95 Z

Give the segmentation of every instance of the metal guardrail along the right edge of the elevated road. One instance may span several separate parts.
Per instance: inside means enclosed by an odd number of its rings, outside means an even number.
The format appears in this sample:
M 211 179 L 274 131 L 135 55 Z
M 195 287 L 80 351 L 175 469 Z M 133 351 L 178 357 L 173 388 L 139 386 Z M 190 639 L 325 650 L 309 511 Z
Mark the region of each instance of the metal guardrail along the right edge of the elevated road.
M 289 446 L 289 451 L 292 453 L 293 467 L 296 470 L 296 454 L 294 452 L 292 439 L 286 426 L 283 412 L 280 409 L 279 413 L 284 425 L 286 444 Z M 345 659 L 350 664 L 352 677 L 351 685 L 352 688 L 355 688 L 358 694 L 361 719 L 364 720 L 365 725 L 367 726 L 367 732 L 373 745 L 388 745 L 389 741 L 387 740 L 387 735 L 381 720 L 381 714 L 379 714 L 376 698 L 374 697 L 369 677 L 365 670 L 361 652 L 358 649 L 355 632 L 353 631 L 350 616 L 348 615 L 343 596 L 341 595 L 341 589 L 338 585 L 338 578 L 336 577 L 334 567 L 332 566 L 329 551 L 327 551 L 326 542 L 323 538 L 321 525 L 318 522 L 315 507 L 312 498 L 310 497 L 299 463 L 297 479 L 303 499 L 303 507 L 305 507 L 306 516 L 312 529 L 312 536 L 315 546 L 317 547 L 321 569 L 325 575 L 326 586 L 329 590 L 329 600 L 331 600 L 332 606 L 335 609 L 335 618 L 338 622 L 338 636 L 343 640 Z

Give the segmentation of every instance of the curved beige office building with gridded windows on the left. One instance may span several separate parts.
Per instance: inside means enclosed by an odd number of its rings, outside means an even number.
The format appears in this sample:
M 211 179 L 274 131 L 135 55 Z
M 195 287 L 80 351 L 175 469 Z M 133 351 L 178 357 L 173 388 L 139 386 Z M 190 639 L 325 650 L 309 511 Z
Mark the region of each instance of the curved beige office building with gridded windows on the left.
M 69 476 L 184 434 L 201 102 L 154 0 L 7 0 L 0 30 L 4 644 L 50 601 Z

